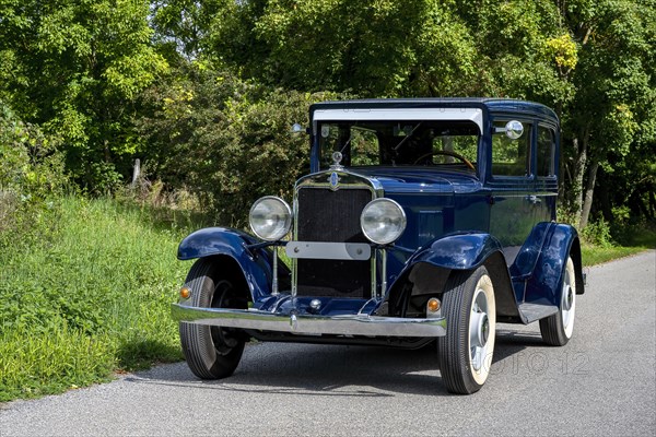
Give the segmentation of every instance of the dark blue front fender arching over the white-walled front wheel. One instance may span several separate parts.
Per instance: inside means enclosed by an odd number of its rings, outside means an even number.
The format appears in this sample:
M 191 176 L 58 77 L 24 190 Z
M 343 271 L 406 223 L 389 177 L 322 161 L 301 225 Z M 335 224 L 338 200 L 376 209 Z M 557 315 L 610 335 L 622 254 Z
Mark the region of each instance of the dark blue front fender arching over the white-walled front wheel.
M 485 264 L 492 276 L 497 312 L 509 318 L 519 317 L 501 244 L 484 233 L 449 235 L 420 248 L 408 259 L 389 288 L 389 314 L 401 314 L 412 294 L 424 294 L 429 290 L 442 293 L 453 270 L 473 270 L 481 264 Z

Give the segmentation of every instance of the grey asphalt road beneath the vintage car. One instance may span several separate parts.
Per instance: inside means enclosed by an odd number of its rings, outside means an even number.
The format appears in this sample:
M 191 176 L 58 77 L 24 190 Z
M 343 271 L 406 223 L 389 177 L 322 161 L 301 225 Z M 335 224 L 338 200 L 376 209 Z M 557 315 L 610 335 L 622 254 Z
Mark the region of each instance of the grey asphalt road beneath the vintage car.
M 499 326 L 477 394 L 448 394 L 430 349 L 254 344 L 222 381 L 180 363 L 2 404 L 0 436 L 653 436 L 656 251 L 587 273 L 572 341 Z

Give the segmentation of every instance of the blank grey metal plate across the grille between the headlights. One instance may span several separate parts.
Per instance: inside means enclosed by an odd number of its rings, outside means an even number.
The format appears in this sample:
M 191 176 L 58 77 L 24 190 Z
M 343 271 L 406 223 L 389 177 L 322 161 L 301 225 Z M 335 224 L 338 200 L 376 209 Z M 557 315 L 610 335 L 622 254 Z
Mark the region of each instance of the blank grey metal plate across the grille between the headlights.
M 284 251 L 290 258 L 366 261 L 372 247 L 366 243 L 289 241 Z

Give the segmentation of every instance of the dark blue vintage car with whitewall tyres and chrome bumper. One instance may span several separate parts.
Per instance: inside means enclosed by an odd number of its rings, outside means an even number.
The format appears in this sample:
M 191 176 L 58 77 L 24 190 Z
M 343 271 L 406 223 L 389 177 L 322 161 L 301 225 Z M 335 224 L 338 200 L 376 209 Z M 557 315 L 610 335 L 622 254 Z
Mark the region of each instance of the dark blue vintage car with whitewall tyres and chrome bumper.
M 311 174 L 254 235 L 197 231 L 173 317 L 191 371 L 233 374 L 259 341 L 435 347 L 442 381 L 478 391 L 496 323 L 572 338 L 576 231 L 555 221 L 559 120 L 499 98 L 364 99 L 309 108 Z M 286 262 L 278 253 L 286 253 Z M 284 258 L 284 257 L 282 257 Z M 289 264 L 289 265 L 288 265 Z

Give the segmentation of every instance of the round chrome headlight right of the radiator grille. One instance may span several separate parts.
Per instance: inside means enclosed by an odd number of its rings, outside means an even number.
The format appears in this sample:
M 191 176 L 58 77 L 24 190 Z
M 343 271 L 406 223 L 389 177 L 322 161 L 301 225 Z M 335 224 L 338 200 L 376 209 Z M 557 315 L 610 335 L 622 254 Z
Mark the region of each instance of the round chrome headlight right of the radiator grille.
M 396 241 L 406 229 L 406 213 L 391 199 L 372 200 L 362 210 L 360 226 L 364 236 L 377 245 Z

